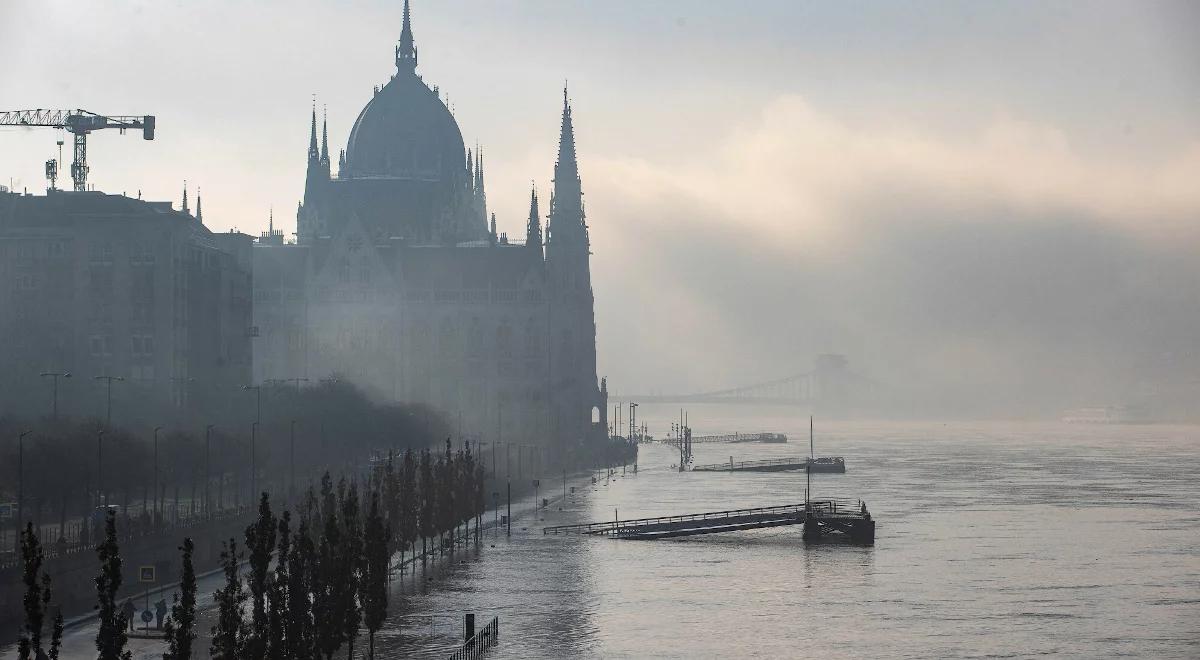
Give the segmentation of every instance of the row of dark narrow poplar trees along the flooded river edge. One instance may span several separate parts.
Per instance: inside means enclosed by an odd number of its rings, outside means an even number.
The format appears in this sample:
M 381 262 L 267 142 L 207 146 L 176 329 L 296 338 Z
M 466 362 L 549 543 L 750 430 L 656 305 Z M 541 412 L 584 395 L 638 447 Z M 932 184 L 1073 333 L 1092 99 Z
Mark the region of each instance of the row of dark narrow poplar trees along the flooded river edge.
M 469 538 L 475 521 L 478 540 L 484 511 L 484 472 L 469 444 L 457 452 L 446 440 L 445 452 L 407 450 L 389 456 L 358 482 L 329 473 L 319 492 L 310 488 L 298 520 L 289 511 L 276 516 L 270 496 L 262 494 L 258 517 L 246 527 L 245 544 L 223 542 L 224 583 L 215 593 L 216 624 L 209 652 L 224 660 L 331 660 L 346 648 L 354 658 L 355 641 L 367 631 L 367 656 L 374 656 L 376 632 L 388 616 L 388 578 L 396 552 L 412 552 L 421 541 L 421 558 L 454 551 Z M 462 533 L 460 533 L 460 530 Z M 42 572 L 42 551 L 32 526 L 23 536 L 25 557 L 25 624 L 20 660 L 56 659 L 62 635 L 61 613 L 52 625 L 48 652 L 42 629 L 50 601 L 49 577 Z M 184 539 L 180 594 L 164 629 L 168 656 L 192 658 L 196 634 L 194 545 Z M 116 522 L 108 515 L 104 539 L 96 546 L 101 570 L 96 577 L 100 628 L 97 660 L 124 660 L 130 622 L 118 607 L 121 558 Z M 247 564 L 244 572 L 242 563 Z M 274 569 L 271 564 L 274 562 Z M 250 607 L 247 618 L 247 604 Z

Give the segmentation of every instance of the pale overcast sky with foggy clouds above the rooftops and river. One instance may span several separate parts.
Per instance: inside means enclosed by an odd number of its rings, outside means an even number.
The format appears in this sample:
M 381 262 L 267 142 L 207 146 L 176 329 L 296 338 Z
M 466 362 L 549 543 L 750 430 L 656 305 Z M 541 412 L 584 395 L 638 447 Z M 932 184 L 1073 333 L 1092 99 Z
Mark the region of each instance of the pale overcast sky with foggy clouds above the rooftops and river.
M 398 0 L 0 0 L 0 109 L 155 114 L 91 181 L 294 230 L 312 95 L 334 149 Z M 1200 5 L 415 0 L 419 72 L 520 233 L 570 80 L 616 390 L 805 371 L 1103 403 L 1200 373 Z M 0 130 L 41 192 L 55 133 Z M 67 158 L 70 160 L 70 158 Z M 937 394 L 942 392 L 942 394 Z M 1051 396 L 1054 395 L 1054 396 Z

